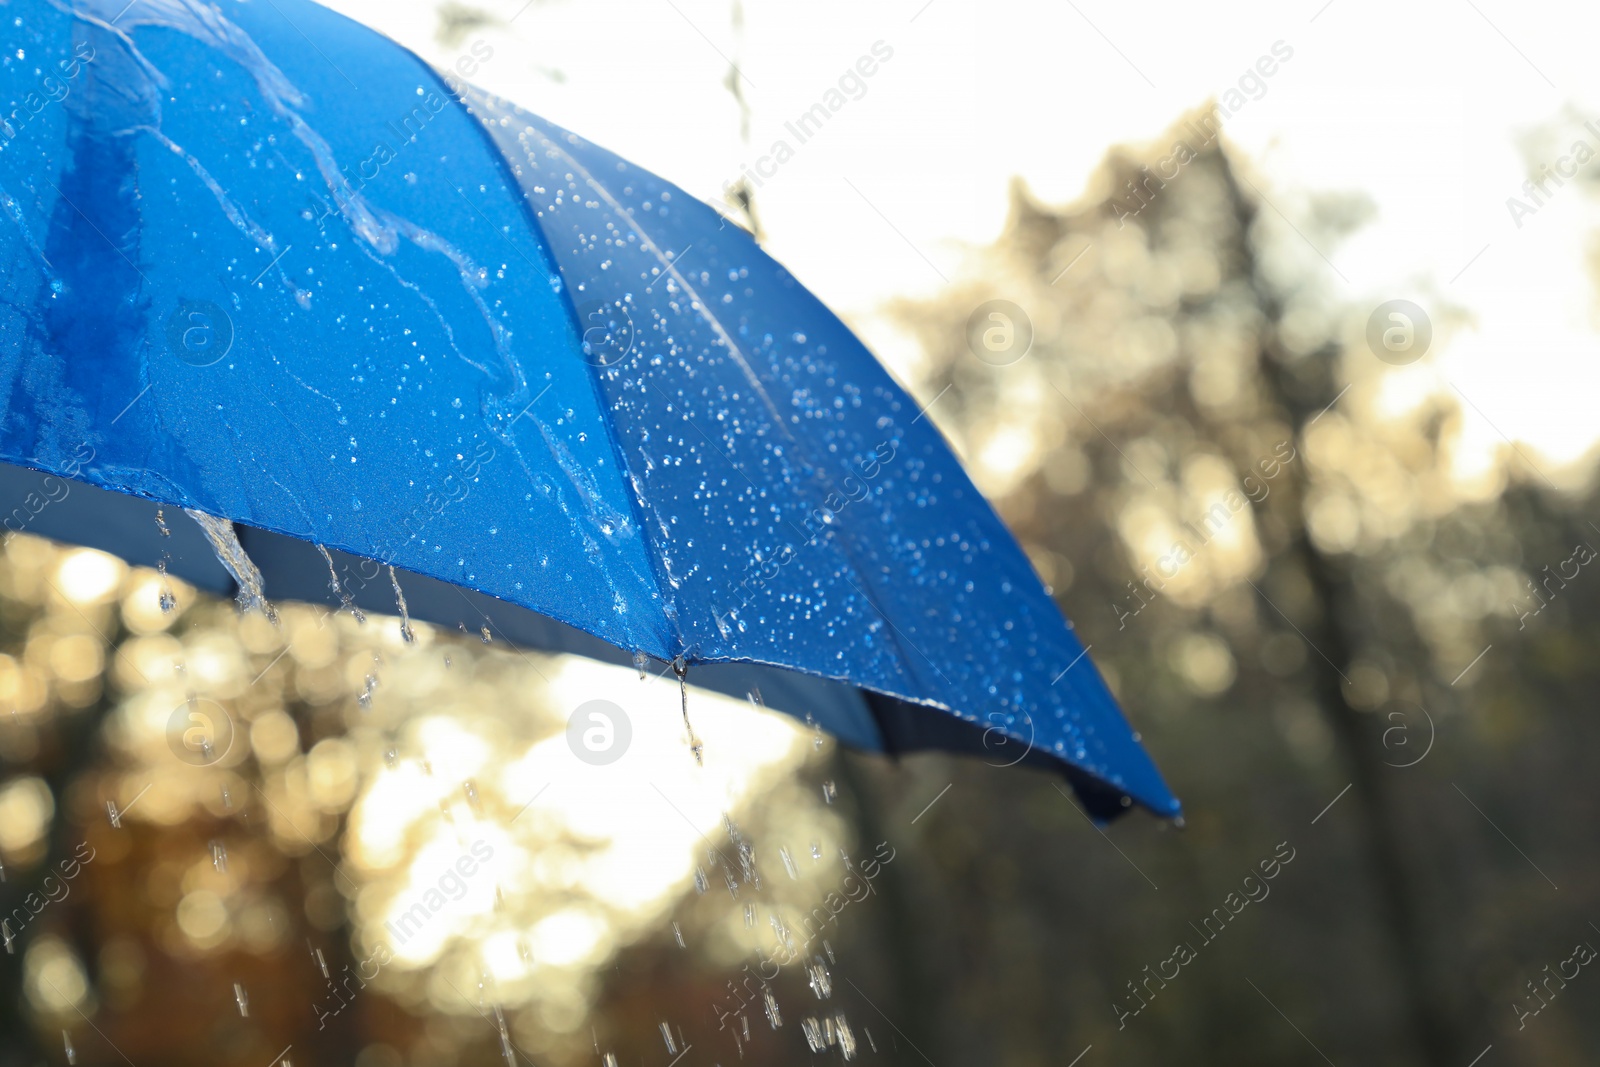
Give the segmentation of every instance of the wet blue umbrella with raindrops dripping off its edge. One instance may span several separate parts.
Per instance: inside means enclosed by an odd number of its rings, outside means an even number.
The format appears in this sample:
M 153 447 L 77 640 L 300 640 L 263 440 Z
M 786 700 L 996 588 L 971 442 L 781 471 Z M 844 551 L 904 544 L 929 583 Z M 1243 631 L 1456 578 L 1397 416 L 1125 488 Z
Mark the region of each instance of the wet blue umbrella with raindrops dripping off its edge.
M 1178 813 L 931 422 L 717 211 L 306 0 L 0 26 L 8 530 Z

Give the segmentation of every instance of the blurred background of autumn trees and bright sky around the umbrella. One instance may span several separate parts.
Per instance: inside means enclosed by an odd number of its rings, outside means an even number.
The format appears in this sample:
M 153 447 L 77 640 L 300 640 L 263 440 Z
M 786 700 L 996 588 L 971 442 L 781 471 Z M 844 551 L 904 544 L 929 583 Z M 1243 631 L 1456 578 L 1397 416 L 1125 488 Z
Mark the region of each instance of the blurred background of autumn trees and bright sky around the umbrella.
M 1186 825 L 11 534 L 0 1064 L 1594 1062 L 1600 16 L 333 6 L 858 328 Z

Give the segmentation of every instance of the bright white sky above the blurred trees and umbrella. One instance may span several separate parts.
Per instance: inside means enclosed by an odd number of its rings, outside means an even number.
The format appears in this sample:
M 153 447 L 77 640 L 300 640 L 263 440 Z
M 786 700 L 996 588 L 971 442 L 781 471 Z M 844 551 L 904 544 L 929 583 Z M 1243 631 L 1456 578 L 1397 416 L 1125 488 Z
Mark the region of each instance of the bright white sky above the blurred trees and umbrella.
M 480 2 L 502 16 L 520 3 Z M 330 3 L 440 66 L 454 61 L 427 3 Z M 1528 18 L 1509 0 L 744 0 L 742 35 L 731 13 L 733 0 L 531 0 L 509 32 L 469 34 L 496 50 L 472 80 L 706 200 L 789 141 L 794 158 L 757 190 L 768 250 L 904 368 L 906 341 L 872 309 L 957 277 L 963 251 L 998 234 L 1013 176 L 1066 203 L 1109 146 L 1155 138 L 1283 42 L 1293 58 L 1227 136 L 1291 221 L 1310 194 L 1376 205 L 1352 242 L 1322 250 L 1352 330 L 1392 298 L 1432 314 L 1434 352 L 1395 373 L 1418 379 L 1413 395 L 1454 386 L 1470 400 L 1464 446 L 1480 462 L 1504 434 L 1555 472 L 1597 437 L 1595 203 L 1574 182 L 1552 184 L 1518 229 L 1506 200 L 1576 139 L 1600 154 L 1600 134 L 1582 130 L 1600 120 L 1600 8 Z M 784 123 L 877 42 L 893 56 L 864 94 L 797 144 Z M 750 147 L 723 88 L 730 59 L 744 74 Z M 565 82 L 541 72 L 552 67 Z M 1464 325 L 1448 328 L 1454 318 Z

